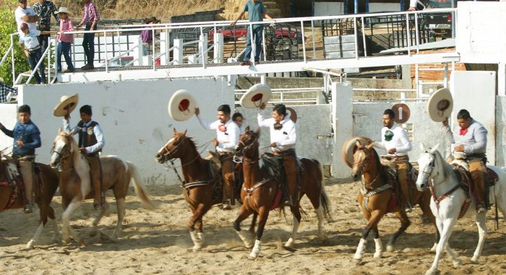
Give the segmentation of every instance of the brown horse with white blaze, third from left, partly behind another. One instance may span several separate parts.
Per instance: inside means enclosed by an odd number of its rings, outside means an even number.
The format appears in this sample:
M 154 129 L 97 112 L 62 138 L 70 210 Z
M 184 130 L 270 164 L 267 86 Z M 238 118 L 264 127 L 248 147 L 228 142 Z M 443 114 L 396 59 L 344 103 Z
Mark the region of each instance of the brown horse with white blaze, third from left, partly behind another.
M 155 157 L 160 164 L 172 162 L 172 159 L 181 160 L 181 170 L 184 177 L 182 195 L 192 212 L 188 227 L 191 241 L 193 241 L 193 250 L 197 251 L 205 243 L 202 217 L 213 205 L 222 202 L 222 190 L 220 190 L 222 179 L 220 171 L 213 168 L 211 161 L 200 157 L 195 142 L 186 133 L 187 131 L 178 133 L 174 129 L 174 136 L 158 150 Z M 197 226 L 197 230 L 195 230 L 195 226 Z

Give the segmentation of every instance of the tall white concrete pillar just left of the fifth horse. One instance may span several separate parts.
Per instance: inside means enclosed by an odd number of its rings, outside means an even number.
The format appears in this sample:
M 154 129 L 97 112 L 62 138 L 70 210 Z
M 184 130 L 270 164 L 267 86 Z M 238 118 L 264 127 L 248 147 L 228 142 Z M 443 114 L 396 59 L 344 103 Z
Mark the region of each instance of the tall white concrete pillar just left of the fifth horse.
M 332 83 L 333 164 L 332 175 L 350 177 L 350 168 L 341 159 L 341 148 L 353 134 L 353 87 L 351 83 Z

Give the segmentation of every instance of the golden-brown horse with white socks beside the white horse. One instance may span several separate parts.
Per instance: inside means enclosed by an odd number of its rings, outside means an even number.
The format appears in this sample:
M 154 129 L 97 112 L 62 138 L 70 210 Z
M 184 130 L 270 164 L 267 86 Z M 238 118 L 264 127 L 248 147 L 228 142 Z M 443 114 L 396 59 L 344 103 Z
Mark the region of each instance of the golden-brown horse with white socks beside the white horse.
M 387 251 L 394 251 L 394 243 L 399 236 L 410 226 L 408 215 L 394 195 L 394 186 L 390 185 L 388 171 L 380 162 L 379 155 L 374 148 L 374 142 L 367 146 L 359 141 L 356 143 L 356 150 L 353 154 L 352 177 L 357 180 L 361 177 L 361 189 L 358 194 L 359 205 L 361 206 L 363 217 L 366 218 L 366 228 L 362 233 L 357 251 L 353 257 L 359 262 L 363 258 L 366 250 L 367 237 L 370 231 L 374 233 L 375 254 L 374 258 L 383 256 L 383 243 L 378 232 L 378 223 L 388 212 L 393 212 L 397 219 L 401 221 L 401 227 L 395 232 L 388 241 Z M 430 192 L 418 192 L 413 190 L 412 201 L 419 204 L 421 210 L 435 225 L 434 215 L 430 211 Z M 436 242 L 439 240 L 439 232 L 436 228 Z M 434 246 L 431 250 L 434 250 Z

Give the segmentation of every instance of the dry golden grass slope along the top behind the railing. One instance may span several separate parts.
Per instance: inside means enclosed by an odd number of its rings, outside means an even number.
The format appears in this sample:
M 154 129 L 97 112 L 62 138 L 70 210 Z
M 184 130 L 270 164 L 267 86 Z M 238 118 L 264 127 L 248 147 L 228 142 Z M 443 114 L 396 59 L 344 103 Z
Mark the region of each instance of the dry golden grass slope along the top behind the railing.
M 29 0 L 36 3 L 38 0 Z M 226 0 L 94 0 L 101 18 L 143 19 L 156 17 L 167 22 L 170 17 L 198 11 L 222 8 Z M 67 7 L 74 13 L 72 19 L 81 18 L 83 4 L 76 0 L 54 0 L 56 8 Z

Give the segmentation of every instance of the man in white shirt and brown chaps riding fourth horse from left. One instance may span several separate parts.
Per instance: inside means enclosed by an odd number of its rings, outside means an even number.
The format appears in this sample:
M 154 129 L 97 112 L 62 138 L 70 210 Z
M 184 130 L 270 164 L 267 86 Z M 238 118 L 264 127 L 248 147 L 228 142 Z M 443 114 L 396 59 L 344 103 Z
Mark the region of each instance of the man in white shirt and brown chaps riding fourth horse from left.
M 295 154 L 295 143 L 297 142 L 297 126 L 286 115 L 284 104 L 276 104 L 273 108 L 272 118 L 264 118 L 265 103 L 260 105 L 258 110 L 258 126 L 268 127 L 271 134 L 271 150 L 274 155 L 283 157 L 283 167 L 286 174 L 286 186 L 282 184 L 284 203 L 294 206 L 293 201 L 297 199 L 297 155 Z

